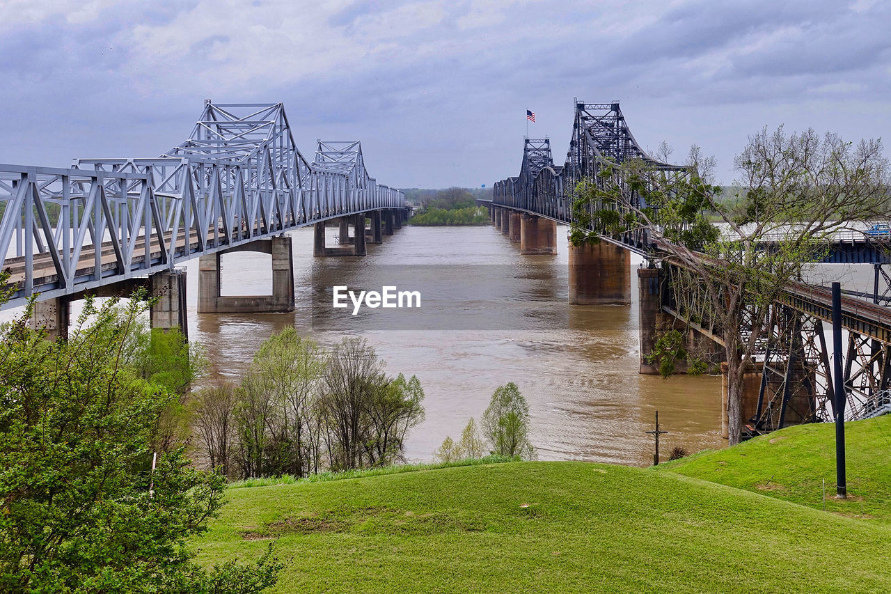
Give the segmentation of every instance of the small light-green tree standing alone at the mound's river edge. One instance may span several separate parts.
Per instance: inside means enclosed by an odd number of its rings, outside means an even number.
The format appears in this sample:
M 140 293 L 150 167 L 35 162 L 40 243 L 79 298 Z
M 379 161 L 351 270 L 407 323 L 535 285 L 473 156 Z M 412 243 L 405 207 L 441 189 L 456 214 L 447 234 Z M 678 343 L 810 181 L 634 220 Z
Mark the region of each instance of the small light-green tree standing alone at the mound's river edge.
M 528 441 L 529 405 L 517 384 L 509 382 L 495 390 L 482 425 L 493 454 L 535 458 L 535 448 Z

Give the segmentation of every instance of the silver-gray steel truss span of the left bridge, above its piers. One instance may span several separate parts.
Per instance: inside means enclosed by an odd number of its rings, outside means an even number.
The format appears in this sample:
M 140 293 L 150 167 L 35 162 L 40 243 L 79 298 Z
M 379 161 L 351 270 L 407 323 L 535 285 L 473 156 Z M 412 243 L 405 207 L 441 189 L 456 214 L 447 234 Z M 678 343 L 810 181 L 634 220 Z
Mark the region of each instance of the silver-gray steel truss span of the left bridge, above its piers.
M 325 219 L 402 209 L 405 195 L 368 175 L 358 142 L 320 142 L 307 162 L 282 103 L 206 101 L 191 136 L 159 157 L 0 165 L 0 208 L 0 269 L 15 288 L 6 309 Z

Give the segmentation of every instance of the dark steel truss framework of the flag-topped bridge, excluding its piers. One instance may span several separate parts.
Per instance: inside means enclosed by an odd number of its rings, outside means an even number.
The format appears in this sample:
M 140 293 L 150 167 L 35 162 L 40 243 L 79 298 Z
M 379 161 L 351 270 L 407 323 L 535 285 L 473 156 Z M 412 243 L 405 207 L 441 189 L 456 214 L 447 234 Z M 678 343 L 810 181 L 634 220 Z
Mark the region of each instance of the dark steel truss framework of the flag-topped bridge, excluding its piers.
M 491 205 L 572 225 L 576 185 L 583 180 L 602 185 L 604 168 L 629 159 L 647 163 L 656 175 L 687 174 L 686 168 L 658 161 L 642 149 L 618 103 L 576 100 L 573 133 L 564 164 L 554 164 L 549 139 L 525 138 L 519 175 L 495 183 Z M 641 201 L 636 206 L 646 206 L 642 197 L 636 199 Z M 605 206 L 589 204 L 592 211 Z M 615 205 L 609 207 L 615 208 Z M 659 256 L 658 246 L 642 231 L 602 239 L 648 259 Z M 863 236 L 839 238 L 824 261 L 871 263 L 875 267 L 875 294 L 866 296 L 873 302 L 846 297 L 842 320 L 847 335 L 846 416 L 870 417 L 891 408 L 891 313 L 878 305 L 879 301 L 889 302 L 891 282 L 885 294 L 879 294 L 879 276 L 888 279 L 882 268 L 889 262 L 887 247 Z M 678 285 L 672 283 L 673 268 L 667 262 L 661 265 L 660 308 L 674 318 L 686 318 L 687 326 L 723 344 L 720 329 L 708 320 L 691 323 L 690 312 L 679 311 L 679 302 L 695 301 L 695 296 L 676 294 Z M 784 300 L 774 304 L 769 332 L 757 353 L 760 384 L 755 414 L 748 418 L 753 433 L 781 428 L 790 420 L 808 422 L 833 418 L 833 384 L 824 332 L 825 324 L 831 324 L 831 320 L 830 293 L 822 287 L 791 286 Z

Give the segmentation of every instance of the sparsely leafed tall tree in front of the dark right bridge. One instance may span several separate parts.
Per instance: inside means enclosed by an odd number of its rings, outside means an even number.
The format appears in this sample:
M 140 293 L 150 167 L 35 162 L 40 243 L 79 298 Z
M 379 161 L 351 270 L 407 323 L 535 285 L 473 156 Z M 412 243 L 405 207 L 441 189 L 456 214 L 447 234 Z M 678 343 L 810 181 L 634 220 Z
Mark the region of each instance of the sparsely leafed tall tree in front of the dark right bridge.
M 770 331 L 773 303 L 820 259 L 832 235 L 887 219 L 889 186 L 880 141 L 854 145 L 813 130 L 788 135 L 764 128 L 735 165 L 740 188 L 722 200 L 715 161 L 696 146 L 683 175 L 644 161 L 604 162 L 597 180 L 576 188 L 570 234 L 580 244 L 645 231 L 677 280 L 695 289 L 695 315 L 723 340 L 732 444 L 740 440 L 744 373 Z

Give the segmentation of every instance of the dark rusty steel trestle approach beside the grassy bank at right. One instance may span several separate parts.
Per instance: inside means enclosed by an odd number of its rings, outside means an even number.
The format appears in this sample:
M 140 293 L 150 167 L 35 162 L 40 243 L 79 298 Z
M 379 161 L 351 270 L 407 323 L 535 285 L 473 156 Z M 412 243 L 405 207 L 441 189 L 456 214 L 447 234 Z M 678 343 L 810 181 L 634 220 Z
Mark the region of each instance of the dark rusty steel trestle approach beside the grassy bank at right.
M 681 276 L 683 271 L 676 265 L 662 263 L 662 309 L 723 344 L 723 328 L 710 315 L 707 297 L 700 287 Z M 740 320 L 744 340 L 753 323 L 747 311 Z M 755 362 L 762 377 L 756 414 L 748 419 L 756 432 L 834 418 L 834 384 L 826 336 L 831 323 L 830 292 L 822 287 L 791 283 L 772 304 L 764 325 L 766 332 L 759 331 L 763 338 L 756 344 Z M 847 341 L 843 355 L 846 419 L 870 417 L 891 405 L 891 313 L 879 305 L 843 297 L 841 323 Z

